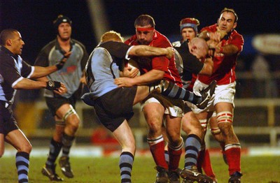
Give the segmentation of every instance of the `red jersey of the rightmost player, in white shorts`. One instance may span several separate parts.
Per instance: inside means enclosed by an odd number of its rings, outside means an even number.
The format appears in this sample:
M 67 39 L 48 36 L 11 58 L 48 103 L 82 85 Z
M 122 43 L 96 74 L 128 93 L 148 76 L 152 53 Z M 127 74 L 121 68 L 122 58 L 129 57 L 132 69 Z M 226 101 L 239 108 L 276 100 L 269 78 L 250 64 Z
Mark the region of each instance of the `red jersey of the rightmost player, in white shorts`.
M 201 31 L 216 31 L 217 24 L 211 25 L 209 27 L 204 27 Z M 232 82 L 235 82 L 235 67 L 237 65 L 237 57 L 243 49 L 244 39 L 241 34 L 233 30 L 228 39 L 223 39 L 222 46 L 224 45 L 236 45 L 238 47 L 238 52 L 231 56 L 225 56 L 224 54 L 218 53 L 215 54 L 214 61 L 214 73 L 211 76 L 207 75 L 198 75 L 198 80 L 204 84 L 209 85 L 212 80 L 217 81 L 217 85 L 227 85 Z

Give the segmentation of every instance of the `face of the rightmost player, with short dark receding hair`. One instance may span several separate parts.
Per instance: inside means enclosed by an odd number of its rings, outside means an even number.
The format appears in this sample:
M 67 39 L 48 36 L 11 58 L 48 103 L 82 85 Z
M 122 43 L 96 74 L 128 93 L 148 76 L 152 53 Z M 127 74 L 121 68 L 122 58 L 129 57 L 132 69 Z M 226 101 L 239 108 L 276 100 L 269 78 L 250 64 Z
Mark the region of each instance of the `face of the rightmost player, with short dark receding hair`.
M 218 28 L 222 31 L 229 33 L 232 29 L 237 27 L 237 22 L 235 22 L 235 15 L 231 12 L 224 12 L 218 19 Z

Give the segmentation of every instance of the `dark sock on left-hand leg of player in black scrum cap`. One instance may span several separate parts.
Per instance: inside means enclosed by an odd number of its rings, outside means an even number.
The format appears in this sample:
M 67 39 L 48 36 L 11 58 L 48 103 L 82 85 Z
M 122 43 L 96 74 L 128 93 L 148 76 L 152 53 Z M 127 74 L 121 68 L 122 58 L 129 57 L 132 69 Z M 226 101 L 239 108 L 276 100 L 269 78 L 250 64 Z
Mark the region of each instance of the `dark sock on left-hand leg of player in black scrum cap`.
M 53 138 L 50 140 L 50 152 L 48 154 L 48 159 L 45 162 L 47 168 L 52 168 L 55 165 L 55 160 L 62 149 L 62 142 L 57 142 Z

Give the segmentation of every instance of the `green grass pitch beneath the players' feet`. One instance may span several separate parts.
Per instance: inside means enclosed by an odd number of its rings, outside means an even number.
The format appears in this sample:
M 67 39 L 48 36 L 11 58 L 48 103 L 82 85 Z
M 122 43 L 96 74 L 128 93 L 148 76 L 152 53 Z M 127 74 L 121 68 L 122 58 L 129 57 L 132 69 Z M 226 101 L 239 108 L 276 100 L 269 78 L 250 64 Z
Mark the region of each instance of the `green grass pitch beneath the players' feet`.
M 41 174 L 41 168 L 46 157 L 32 157 L 29 167 L 29 182 L 41 183 L 50 182 L 47 177 Z M 219 183 L 228 182 L 228 166 L 223 162 L 222 156 L 211 157 L 212 166 Z M 155 163 L 153 158 L 136 156 L 132 170 L 132 182 L 153 183 L 155 181 Z M 118 168 L 118 157 L 102 158 L 71 158 L 71 167 L 75 177 L 68 179 L 62 175 L 57 166 L 57 174 L 64 178 L 64 182 L 98 182 L 116 183 L 120 182 Z M 181 158 L 183 167 L 183 156 Z M 242 156 L 241 168 L 244 183 L 280 183 L 280 156 Z M 18 182 L 15 168 L 15 158 L 5 157 L 0 159 L 0 182 Z

